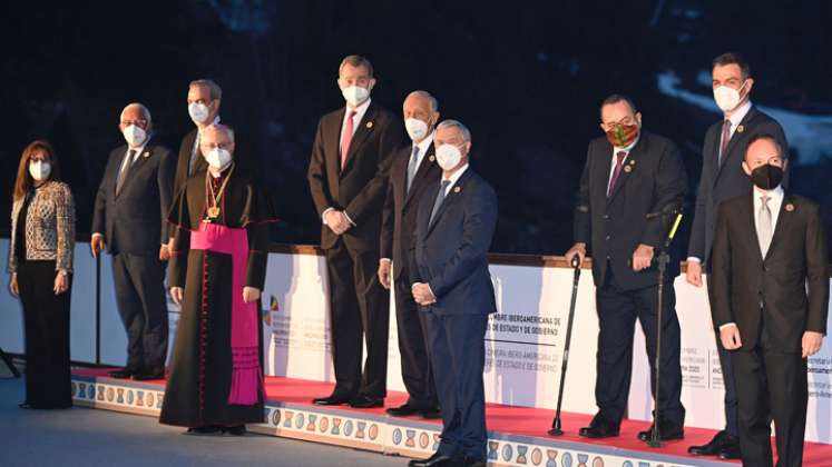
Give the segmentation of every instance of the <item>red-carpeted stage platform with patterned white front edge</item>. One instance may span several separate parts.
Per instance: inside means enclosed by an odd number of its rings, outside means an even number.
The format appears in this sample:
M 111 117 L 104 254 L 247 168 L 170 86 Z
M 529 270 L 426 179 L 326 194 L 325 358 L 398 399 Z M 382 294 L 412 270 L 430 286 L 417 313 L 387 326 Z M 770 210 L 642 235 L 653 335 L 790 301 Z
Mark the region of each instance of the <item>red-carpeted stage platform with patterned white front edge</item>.
M 133 381 L 106 376 L 105 369 L 77 369 L 72 372 L 75 404 L 106 410 L 156 417 L 161 408 L 165 381 Z M 265 423 L 249 426 L 264 435 L 303 439 L 372 450 L 388 455 L 428 457 L 439 443 L 440 420 L 418 417 L 395 418 L 383 409 L 359 410 L 346 406 L 315 406 L 313 397 L 332 391 L 329 382 L 290 378 L 266 378 Z M 388 407 L 407 400 L 407 394 L 391 393 Z M 489 441 L 488 460 L 495 466 L 545 467 L 683 467 L 732 466 L 740 463 L 694 457 L 687 447 L 704 444 L 713 430 L 686 428 L 685 439 L 668 441 L 652 449 L 636 439 L 648 423 L 625 421 L 620 436 L 588 440 L 577 436 L 578 428 L 589 424 L 590 416 L 566 414 L 566 433 L 547 435 L 552 410 L 489 404 L 486 409 Z M 807 443 L 803 465 L 821 467 L 832 464 L 832 446 Z

